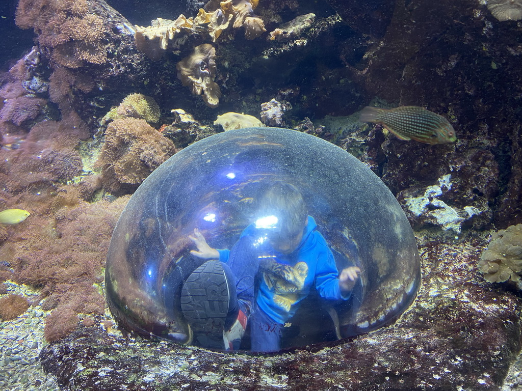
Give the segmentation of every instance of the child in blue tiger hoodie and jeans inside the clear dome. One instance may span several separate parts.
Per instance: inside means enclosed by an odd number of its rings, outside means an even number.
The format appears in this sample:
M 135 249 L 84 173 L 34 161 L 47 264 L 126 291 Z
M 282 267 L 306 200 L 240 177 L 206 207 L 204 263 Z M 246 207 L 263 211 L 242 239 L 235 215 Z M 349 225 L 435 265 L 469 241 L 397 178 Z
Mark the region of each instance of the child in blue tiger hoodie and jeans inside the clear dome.
M 277 181 L 260 200 L 259 215 L 231 250 L 211 248 L 197 229 L 189 238 L 197 247 L 192 254 L 219 259 L 208 262 L 217 262 L 218 270 L 222 266 L 223 279 L 235 285 L 237 300 L 230 295 L 224 343 L 239 348 L 248 317 L 251 349 L 268 352 L 280 349 L 282 327 L 312 286 L 325 299 L 347 300 L 361 271 L 357 266 L 337 271 L 331 250 L 294 186 Z M 208 262 L 198 269 L 208 267 Z

